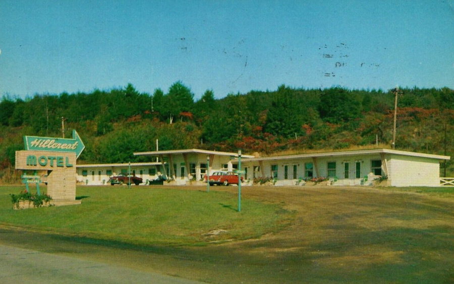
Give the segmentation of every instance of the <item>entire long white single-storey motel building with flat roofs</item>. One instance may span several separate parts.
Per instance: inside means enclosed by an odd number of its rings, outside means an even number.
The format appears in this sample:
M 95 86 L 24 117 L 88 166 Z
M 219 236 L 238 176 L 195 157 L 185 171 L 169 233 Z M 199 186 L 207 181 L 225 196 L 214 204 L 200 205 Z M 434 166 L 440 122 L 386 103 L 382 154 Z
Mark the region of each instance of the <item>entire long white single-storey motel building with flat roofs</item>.
M 147 181 L 166 178 L 164 185 L 204 185 L 204 176 L 238 169 L 238 153 L 200 149 L 134 153 L 149 157 L 147 163 L 77 165 L 77 181 L 86 185 L 109 184 L 110 176 L 133 175 Z M 312 154 L 254 157 L 241 156 L 242 185 L 269 178 L 271 184 L 305 185 L 323 177 L 328 185 L 372 185 L 387 177 L 387 186 L 440 186 L 440 162 L 449 156 L 374 149 Z M 452 181 L 448 182 L 452 185 Z

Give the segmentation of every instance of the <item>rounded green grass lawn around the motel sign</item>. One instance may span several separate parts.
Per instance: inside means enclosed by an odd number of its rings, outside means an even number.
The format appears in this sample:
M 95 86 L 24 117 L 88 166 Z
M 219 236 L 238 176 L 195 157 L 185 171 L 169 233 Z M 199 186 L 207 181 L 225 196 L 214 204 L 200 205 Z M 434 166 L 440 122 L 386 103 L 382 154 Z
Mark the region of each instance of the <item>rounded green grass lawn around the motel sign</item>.
M 0 224 L 136 245 L 257 238 L 291 217 L 278 205 L 253 200 L 243 200 L 237 212 L 237 196 L 228 192 L 135 186 L 82 186 L 81 205 L 12 210 L 9 194 L 22 189 L 0 187 Z

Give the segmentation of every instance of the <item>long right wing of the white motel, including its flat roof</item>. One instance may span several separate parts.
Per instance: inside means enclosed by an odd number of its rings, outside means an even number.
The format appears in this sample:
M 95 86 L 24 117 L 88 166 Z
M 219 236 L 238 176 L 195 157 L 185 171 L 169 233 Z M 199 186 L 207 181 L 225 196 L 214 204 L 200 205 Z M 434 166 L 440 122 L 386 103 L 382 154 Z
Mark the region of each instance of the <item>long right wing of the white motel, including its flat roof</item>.
M 243 159 L 246 179 L 269 177 L 275 185 L 328 178 L 333 185 L 439 186 L 440 161 L 448 156 L 375 149 Z

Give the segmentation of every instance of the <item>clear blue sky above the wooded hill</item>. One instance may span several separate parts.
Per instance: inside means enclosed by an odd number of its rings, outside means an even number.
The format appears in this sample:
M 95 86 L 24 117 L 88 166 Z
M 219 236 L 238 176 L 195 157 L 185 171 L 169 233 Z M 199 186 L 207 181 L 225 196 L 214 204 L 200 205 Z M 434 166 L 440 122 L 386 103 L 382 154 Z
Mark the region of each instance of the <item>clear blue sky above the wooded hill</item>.
M 454 89 L 454 0 L 0 0 L 0 97 Z

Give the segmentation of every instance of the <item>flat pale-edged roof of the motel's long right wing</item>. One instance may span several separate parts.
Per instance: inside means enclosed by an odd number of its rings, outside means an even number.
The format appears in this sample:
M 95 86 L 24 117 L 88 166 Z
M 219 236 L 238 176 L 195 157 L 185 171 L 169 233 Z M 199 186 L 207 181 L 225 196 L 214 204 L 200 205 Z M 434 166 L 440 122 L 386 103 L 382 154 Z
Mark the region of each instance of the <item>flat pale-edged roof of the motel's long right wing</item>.
M 449 160 L 449 156 L 424 154 L 408 151 L 390 150 L 390 149 L 372 149 L 372 150 L 355 150 L 355 151 L 336 151 L 336 152 L 321 152 L 311 154 L 296 154 L 296 155 L 284 155 L 284 156 L 270 156 L 270 157 L 254 157 L 244 159 L 244 162 L 253 161 L 273 161 L 273 160 L 292 160 L 292 159 L 304 159 L 304 158 L 320 158 L 320 157 L 339 157 L 339 156 L 356 156 L 356 155 L 371 155 L 371 154 L 393 154 L 420 158 L 429 158 L 437 160 Z

